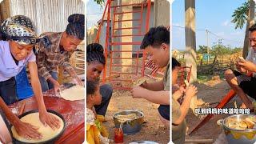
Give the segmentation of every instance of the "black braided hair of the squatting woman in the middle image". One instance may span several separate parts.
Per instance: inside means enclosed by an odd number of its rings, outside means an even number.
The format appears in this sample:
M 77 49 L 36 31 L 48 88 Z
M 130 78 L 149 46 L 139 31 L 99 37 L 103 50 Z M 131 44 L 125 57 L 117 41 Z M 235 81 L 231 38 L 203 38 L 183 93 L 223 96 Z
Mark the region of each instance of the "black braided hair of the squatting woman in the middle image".
M 100 62 L 106 64 L 106 59 L 103 54 L 103 46 L 98 43 L 91 43 L 86 46 L 86 62 Z

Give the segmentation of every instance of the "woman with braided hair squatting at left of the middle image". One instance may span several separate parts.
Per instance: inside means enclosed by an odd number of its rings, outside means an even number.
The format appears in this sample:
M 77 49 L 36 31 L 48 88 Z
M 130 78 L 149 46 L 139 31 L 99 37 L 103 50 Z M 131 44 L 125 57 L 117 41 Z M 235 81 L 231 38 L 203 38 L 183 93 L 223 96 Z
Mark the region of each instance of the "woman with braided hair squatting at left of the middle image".
M 94 82 L 100 80 L 100 75 L 106 64 L 103 51 L 102 45 L 98 43 L 91 43 L 86 46 L 86 79 Z M 107 106 L 109 106 L 113 90 L 110 85 L 104 84 L 100 86 L 100 93 L 102 94 L 102 102 L 99 105 L 95 105 L 94 108 L 98 117 L 105 119 Z

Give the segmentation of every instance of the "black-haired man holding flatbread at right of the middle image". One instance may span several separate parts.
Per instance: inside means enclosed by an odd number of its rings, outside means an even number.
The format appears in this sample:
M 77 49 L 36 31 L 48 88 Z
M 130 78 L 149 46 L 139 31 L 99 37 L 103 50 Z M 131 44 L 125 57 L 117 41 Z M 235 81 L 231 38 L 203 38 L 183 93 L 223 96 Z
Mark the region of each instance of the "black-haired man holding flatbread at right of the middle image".
M 142 40 L 141 49 L 157 67 L 166 67 L 164 78 L 159 82 L 144 82 L 131 90 L 133 98 L 145 98 L 159 104 L 159 118 L 166 127 L 170 127 L 170 31 L 164 26 L 150 28 Z

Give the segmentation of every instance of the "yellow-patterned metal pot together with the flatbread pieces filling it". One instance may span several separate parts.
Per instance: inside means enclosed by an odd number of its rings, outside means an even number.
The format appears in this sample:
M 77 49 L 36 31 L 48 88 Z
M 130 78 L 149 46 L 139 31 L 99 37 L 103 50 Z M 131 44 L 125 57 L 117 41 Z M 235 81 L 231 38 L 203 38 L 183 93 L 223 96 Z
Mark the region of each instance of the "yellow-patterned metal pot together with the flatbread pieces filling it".
M 219 120 L 229 143 L 255 143 L 256 142 L 256 115 L 235 114 Z

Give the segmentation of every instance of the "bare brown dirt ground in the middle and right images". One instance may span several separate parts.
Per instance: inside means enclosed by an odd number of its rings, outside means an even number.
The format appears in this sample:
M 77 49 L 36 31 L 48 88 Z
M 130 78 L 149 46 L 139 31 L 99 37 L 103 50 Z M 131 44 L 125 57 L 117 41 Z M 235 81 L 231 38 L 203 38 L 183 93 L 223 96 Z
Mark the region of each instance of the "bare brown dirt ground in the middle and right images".
M 212 79 L 208 82 L 195 83 L 198 87 L 198 98 L 202 98 L 203 102 L 219 102 L 230 90 L 230 86 L 225 79 Z M 225 107 L 234 107 L 234 101 L 240 106 L 241 102 L 238 98 L 233 98 Z M 210 105 L 214 107 L 217 104 Z M 145 123 L 142 130 L 138 134 L 125 135 L 124 143 L 138 140 L 154 141 L 166 144 L 170 141 L 170 130 L 162 125 L 158 118 L 158 105 L 147 102 L 144 99 L 134 99 L 129 91 L 114 90 L 110 105 L 106 113 L 107 122 L 104 124 L 110 130 L 110 139 L 114 139 L 114 121 L 113 114 L 121 110 L 141 110 L 144 115 Z M 213 139 L 218 138 L 222 133 L 222 127 L 217 125 L 218 119 L 226 118 L 227 114 L 215 115 L 206 125 L 202 126 L 193 134 L 186 135 L 186 139 Z M 188 132 L 201 122 L 200 118 L 195 116 L 190 110 L 186 116 Z

